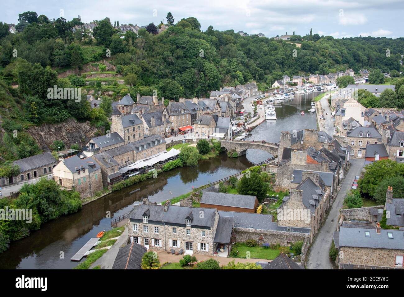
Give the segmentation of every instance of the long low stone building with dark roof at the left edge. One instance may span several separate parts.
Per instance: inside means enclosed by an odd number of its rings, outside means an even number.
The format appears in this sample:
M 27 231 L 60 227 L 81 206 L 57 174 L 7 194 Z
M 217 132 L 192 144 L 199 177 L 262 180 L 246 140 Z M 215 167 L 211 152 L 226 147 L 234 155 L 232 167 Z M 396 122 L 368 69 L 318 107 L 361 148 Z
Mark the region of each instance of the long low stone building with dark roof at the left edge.
M 33 178 L 39 178 L 51 174 L 52 169 L 56 166 L 57 162 L 58 161 L 50 152 L 13 161 L 13 165 L 19 166 L 20 173 L 18 176 L 0 177 L 1 186 L 7 186 L 17 182 L 25 182 L 32 180 Z

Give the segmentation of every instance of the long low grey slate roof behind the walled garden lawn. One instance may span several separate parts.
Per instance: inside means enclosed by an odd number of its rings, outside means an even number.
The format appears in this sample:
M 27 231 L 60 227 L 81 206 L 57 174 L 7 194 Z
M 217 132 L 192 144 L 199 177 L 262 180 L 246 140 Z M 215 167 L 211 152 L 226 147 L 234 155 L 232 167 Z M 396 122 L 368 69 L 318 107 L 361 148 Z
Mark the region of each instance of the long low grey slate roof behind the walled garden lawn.
M 272 215 L 223 210 L 219 210 L 218 212 L 220 216 L 234 218 L 234 228 L 251 228 L 276 231 L 287 231 L 288 228 L 291 228 L 291 231 L 289 232 L 305 234 L 310 233 L 310 228 L 277 226 L 276 222 L 272 222 Z

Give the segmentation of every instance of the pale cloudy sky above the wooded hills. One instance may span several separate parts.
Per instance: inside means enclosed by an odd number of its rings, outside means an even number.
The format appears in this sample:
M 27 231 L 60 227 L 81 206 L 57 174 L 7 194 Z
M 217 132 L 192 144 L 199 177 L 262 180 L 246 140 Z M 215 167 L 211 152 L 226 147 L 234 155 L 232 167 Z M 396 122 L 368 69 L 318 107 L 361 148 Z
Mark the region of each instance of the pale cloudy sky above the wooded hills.
M 156 25 L 170 11 L 175 22 L 196 17 L 202 30 L 262 32 L 267 37 L 291 34 L 402 37 L 402 0 L 9 0 L 2 3 L 0 21 L 17 23 L 18 14 L 36 11 L 50 19 L 61 14 L 67 20 L 80 15 L 82 21 L 109 17 L 120 24 Z

